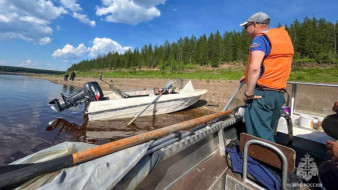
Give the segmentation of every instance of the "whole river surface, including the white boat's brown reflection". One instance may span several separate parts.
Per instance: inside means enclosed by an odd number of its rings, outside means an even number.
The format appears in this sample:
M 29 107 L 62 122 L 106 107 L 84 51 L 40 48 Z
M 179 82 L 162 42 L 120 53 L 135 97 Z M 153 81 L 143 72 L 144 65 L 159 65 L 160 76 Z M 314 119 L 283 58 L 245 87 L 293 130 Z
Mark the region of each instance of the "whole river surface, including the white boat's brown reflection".
M 0 74 L 0 165 L 64 141 L 103 144 L 205 114 L 185 110 L 140 117 L 132 126 L 126 127 L 130 119 L 87 122 L 84 105 L 62 112 L 50 108 L 48 102 L 60 98 L 60 93 L 72 95 L 79 91 L 81 89 L 71 85 Z

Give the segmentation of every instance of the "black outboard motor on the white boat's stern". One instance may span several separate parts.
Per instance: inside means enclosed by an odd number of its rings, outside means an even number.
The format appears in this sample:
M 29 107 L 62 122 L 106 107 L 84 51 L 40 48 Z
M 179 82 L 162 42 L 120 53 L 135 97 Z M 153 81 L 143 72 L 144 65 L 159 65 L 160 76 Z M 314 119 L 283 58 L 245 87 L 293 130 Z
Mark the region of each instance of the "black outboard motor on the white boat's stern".
M 70 107 L 75 107 L 78 104 L 89 104 L 91 101 L 103 100 L 103 93 L 100 85 L 97 82 L 89 82 L 83 86 L 83 90 L 73 96 L 65 96 L 61 93 L 62 100 L 55 98 L 50 101 L 51 108 L 55 111 L 63 111 Z

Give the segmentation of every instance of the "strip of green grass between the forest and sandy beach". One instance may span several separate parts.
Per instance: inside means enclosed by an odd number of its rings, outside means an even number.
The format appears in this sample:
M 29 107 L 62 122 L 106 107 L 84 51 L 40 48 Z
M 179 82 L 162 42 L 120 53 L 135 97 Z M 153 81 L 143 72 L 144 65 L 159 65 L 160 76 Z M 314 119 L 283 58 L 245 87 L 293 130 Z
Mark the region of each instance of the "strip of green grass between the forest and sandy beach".
M 161 70 L 108 70 L 104 78 L 183 78 L 199 80 L 238 80 L 244 74 L 244 68 L 199 69 L 181 72 L 164 72 Z M 98 78 L 100 71 L 76 72 L 80 77 Z M 338 66 L 332 67 L 293 67 L 289 81 L 338 83 Z

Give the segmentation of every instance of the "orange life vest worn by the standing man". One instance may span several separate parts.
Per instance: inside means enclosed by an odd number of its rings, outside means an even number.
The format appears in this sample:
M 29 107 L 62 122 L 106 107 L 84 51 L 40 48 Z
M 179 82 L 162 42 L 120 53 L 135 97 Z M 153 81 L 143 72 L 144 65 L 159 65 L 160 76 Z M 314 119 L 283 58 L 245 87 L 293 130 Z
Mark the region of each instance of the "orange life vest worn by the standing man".
M 291 72 L 293 58 L 293 45 L 288 32 L 284 27 L 272 28 L 259 35 L 265 35 L 270 41 L 270 54 L 263 60 L 264 72 L 258 79 L 257 85 L 272 89 L 285 89 Z M 248 65 L 245 70 L 247 83 L 248 68 L 251 60 L 249 51 Z

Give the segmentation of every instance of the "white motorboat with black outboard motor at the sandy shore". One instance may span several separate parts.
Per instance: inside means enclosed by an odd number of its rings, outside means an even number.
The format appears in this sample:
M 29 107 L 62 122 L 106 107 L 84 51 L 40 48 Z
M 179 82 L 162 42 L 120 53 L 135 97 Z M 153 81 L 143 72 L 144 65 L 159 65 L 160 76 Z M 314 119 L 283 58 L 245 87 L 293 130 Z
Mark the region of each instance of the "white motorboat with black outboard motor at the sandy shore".
M 89 121 L 113 120 L 135 117 L 144 109 L 142 116 L 176 112 L 195 104 L 206 93 L 205 89 L 194 89 L 191 81 L 181 90 L 176 91 L 171 81 L 161 89 L 121 91 L 112 88 L 112 91 L 105 92 L 102 92 L 97 83 L 89 83 L 79 94 L 72 97 L 62 95 L 63 102 L 54 99 L 50 104 L 54 110 L 62 111 L 68 107 L 86 103 L 85 113 L 88 114 Z

